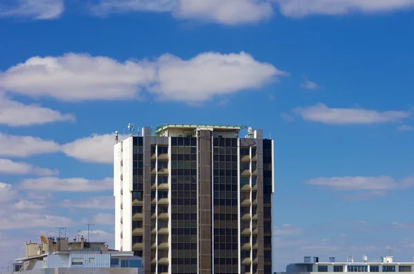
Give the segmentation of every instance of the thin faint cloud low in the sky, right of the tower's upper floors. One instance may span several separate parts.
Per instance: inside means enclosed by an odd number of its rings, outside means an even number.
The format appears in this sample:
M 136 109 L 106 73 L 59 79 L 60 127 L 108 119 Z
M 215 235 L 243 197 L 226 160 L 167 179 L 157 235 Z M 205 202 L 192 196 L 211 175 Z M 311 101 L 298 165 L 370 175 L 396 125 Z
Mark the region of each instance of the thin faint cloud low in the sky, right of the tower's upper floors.
M 332 177 L 314 178 L 305 181 L 308 185 L 317 185 L 335 190 L 370 190 L 405 189 L 414 185 L 414 176 L 397 181 L 389 176 L 380 177 Z

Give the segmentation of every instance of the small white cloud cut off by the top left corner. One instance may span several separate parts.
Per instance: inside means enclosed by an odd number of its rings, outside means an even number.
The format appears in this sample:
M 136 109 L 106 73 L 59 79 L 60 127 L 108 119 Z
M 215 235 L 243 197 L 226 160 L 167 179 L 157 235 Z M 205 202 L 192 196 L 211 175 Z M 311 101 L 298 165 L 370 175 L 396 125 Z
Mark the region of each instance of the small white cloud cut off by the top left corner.
M 14 0 L 0 3 L 0 17 L 55 19 L 61 16 L 63 10 L 63 0 Z

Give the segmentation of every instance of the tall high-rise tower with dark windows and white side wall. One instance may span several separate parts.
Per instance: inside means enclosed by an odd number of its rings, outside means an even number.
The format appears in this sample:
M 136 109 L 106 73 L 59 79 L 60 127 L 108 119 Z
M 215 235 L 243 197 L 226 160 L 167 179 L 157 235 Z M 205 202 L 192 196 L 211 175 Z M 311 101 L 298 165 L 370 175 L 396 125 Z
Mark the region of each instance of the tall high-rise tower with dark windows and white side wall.
M 144 274 L 272 273 L 273 140 L 161 125 L 115 145 L 115 248 Z

